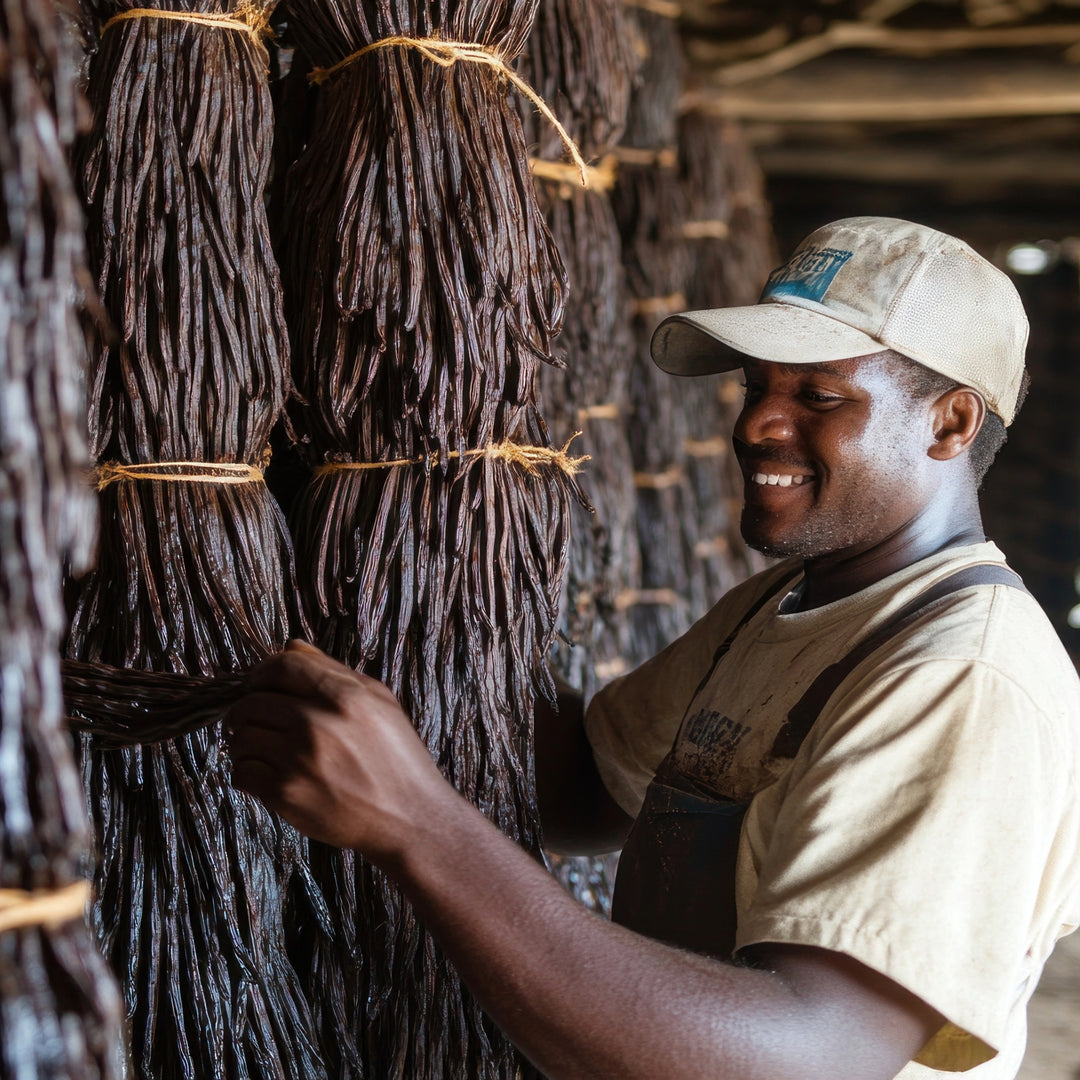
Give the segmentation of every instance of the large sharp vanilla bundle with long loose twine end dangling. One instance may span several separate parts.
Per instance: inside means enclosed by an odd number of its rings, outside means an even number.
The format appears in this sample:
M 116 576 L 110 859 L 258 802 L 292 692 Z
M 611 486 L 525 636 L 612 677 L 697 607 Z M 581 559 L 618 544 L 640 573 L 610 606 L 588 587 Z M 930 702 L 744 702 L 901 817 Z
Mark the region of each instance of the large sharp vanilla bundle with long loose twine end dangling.
M 537 852 L 531 714 L 576 484 L 535 401 L 565 273 L 507 76 L 535 6 L 292 4 L 321 89 L 279 249 L 314 639 L 388 681 L 449 780 Z M 332 851 L 319 873 L 355 920 L 345 948 L 314 942 L 347 1002 L 321 1022 L 368 1076 L 522 1072 L 396 887 Z

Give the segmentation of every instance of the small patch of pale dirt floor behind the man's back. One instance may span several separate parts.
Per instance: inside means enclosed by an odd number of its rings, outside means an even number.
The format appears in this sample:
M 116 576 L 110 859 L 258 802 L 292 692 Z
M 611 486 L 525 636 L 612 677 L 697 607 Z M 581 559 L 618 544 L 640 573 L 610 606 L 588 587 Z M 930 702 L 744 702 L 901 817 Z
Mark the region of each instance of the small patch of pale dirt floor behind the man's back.
M 1027 1017 L 1017 1080 L 1080 1080 L 1080 933 L 1057 943 Z

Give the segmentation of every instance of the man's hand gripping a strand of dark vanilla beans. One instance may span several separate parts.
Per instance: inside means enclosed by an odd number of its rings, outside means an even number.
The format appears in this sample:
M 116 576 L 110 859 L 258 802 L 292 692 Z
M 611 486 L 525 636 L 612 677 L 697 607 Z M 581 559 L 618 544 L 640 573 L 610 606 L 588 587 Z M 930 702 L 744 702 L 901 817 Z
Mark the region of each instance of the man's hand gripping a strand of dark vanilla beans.
M 453 797 L 390 690 L 289 642 L 229 711 L 232 778 L 301 833 L 392 862 Z

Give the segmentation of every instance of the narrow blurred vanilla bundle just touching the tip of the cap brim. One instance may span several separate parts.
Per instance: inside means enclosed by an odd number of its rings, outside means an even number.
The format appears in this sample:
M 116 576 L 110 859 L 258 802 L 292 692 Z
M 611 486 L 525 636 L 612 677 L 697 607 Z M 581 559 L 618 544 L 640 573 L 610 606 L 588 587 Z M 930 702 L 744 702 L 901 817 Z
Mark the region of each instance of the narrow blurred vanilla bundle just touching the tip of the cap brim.
M 686 308 L 689 260 L 683 242 L 685 192 L 678 183 L 676 108 L 685 60 L 674 18 L 634 9 L 643 63 L 622 145 L 612 204 L 632 297 L 635 349 L 629 424 L 642 556 L 638 589 L 624 599 L 632 663 L 654 656 L 692 621 L 691 492 L 683 403 L 692 387 L 659 370 L 649 341 L 666 315 Z

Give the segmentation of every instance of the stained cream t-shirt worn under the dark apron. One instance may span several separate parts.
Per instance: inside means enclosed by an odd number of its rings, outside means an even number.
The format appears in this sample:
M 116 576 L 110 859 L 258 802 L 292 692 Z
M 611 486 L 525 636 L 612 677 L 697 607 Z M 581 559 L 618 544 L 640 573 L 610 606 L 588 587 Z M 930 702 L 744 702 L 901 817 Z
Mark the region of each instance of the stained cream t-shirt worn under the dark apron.
M 797 572 L 779 564 L 602 690 L 585 719 L 600 775 L 632 815 L 676 735 L 685 774 L 751 799 L 737 950 L 843 953 L 946 1017 L 903 1080 L 1008 1080 L 1020 1066 L 1027 1001 L 1080 922 L 1076 670 L 1029 595 L 969 586 L 864 659 L 794 758 L 771 752 L 825 666 L 976 563 L 1003 557 L 993 543 L 949 549 L 807 611 L 781 588 L 710 672 L 742 616 Z

